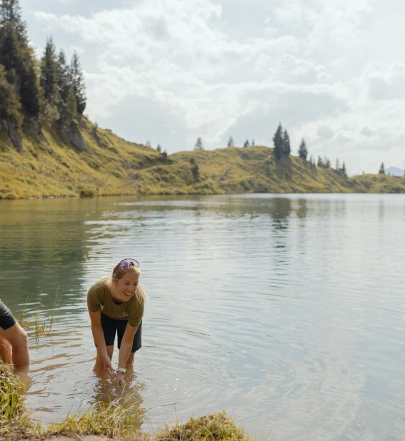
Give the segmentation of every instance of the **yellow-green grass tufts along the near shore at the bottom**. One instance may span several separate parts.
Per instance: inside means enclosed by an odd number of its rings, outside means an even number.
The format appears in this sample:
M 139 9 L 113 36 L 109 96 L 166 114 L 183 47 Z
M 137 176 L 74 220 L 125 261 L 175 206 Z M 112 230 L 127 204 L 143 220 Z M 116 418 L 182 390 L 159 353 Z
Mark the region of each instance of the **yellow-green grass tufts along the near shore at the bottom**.
M 0 439 L 46 440 L 66 437 L 66 440 L 81 439 L 96 435 L 100 439 L 134 441 L 212 440 L 249 441 L 246 432 L 234 424 L 226 412 L 212 413 L 191 418 L 181 425 L 166 425 L 156 435 L 139 432 L 139 420 L 133 408 L 111 402 L 99 402 L 84 412 L 67 415 L 63 422 L 54 423 L 44 430 L 41 424 L 34 425 L 24 407 L 24 385 L 14 375 L 9 365 L 0 363 Z

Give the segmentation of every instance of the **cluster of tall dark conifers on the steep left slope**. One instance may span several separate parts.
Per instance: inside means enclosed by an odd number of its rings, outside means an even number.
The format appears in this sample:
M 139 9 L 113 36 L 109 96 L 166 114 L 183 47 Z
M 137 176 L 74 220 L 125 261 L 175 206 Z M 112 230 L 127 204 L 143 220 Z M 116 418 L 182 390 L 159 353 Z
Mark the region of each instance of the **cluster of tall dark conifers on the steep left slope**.
M 19 0 L 0 2 L 0 130 L 14 145 L 30 125 L 71 126 L 86 108 L 84 75 L 75 52 L 70 63 L 51 37 L 36 59 Z M 70 128 L 70 127 L 69 127 Z M 21 145 L 19 146 L 21 148 Z

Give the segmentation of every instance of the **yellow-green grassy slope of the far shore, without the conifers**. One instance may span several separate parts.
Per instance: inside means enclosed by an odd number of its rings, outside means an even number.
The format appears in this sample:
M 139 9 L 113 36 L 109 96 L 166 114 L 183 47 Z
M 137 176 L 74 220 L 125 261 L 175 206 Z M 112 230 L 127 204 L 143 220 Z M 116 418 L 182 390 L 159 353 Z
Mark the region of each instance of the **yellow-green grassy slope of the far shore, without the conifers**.
M 296 156 L 277 161 L 266 146 L 184 151 L 167 156 L 81 119 L 86 148 L 56 131 L 24 137 L 21 152 L 0 138 L 0 198 L 212 193 L 405 193 L 405 178 L 347 178 Z

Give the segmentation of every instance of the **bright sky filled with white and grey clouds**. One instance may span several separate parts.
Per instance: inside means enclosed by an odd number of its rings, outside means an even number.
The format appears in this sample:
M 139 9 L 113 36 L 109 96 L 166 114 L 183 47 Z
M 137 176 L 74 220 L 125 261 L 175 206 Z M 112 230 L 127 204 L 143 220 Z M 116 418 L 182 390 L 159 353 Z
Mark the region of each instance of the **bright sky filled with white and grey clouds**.
M 246 139 L 349 174 L 405 168 L 402 0 L 20 0 L 36 51 L 79 53 L 92 121 L 168 153 Z

